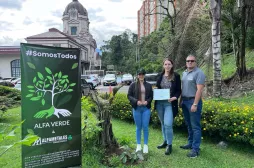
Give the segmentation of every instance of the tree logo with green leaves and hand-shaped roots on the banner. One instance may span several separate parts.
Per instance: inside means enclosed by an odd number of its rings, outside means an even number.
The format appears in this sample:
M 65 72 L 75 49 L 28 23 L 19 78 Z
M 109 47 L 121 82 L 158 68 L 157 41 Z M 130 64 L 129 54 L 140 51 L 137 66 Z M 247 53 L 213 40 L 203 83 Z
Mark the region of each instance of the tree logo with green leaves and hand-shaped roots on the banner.
M 28 66 L 35 69 L 35 66 L 28 62 Z M 73 64 L 72 69 L 78 67 L 78 63 Z M 62 72 L 53 73 L 48 67 L 45 67 L 46 75 L 41 72 L 37 72 L 37 75 L 33 78 L 32 85 L 27 86 L 28 94 L 26 95 L 31 101 L 41 101 L 44 106 L 46 103 L 51 103 L 51 107 L 45 110 L 41 110 L 34 115 L 34 118 L 49 118 L 55 115 L 60 118 L 68 117 L 71 112 L 67 109 L 58 109 L 54 104 L 56 95 L 61 93 L 73 92 L 73 87 L 76 83 L 71 83 L 68 79 L 68 75 L 62 74 Z M 51 95 L 51 102 L 46 102 L 45 96 Z

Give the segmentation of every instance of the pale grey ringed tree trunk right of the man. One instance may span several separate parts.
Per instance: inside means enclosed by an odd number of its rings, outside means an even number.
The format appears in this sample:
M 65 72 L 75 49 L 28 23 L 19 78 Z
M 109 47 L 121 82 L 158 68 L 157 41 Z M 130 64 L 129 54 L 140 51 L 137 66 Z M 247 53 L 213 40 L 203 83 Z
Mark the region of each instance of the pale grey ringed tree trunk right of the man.
M 221 2 L 211 0 L 212 13 L 212 53 L 213 53 L 213 96 L 221 96 Z

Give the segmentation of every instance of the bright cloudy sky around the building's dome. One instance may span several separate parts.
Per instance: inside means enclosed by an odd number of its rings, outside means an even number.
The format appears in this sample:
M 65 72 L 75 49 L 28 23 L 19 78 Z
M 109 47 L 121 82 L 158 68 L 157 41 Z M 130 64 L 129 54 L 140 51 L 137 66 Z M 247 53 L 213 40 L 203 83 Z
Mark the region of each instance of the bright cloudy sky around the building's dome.
M 19 45 L 24 38 L 57 28 L 72 0 L 0 0 L 0 46 Z M 137 32 L 142 0 L 79 0 L 87 9 L 90 33 L 98 47 L 125 29 Z

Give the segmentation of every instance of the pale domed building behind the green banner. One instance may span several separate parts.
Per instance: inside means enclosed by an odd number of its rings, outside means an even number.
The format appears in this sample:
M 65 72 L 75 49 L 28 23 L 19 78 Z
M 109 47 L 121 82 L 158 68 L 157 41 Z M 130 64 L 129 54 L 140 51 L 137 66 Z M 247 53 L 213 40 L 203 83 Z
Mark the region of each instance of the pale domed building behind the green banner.
M 87 10 L 78 0 L 72 0 L 63 12 L 63 32 L 51 28 L 47 32 L 29 36 L 27 43 L 54 47 L 79 48 L 81 51 L 81 72 L 99 69 L 101 57 L 95 52 L 95 39 L 89 32 Z M 0 47 L 0 77 L 20 76 L 20 47 Z

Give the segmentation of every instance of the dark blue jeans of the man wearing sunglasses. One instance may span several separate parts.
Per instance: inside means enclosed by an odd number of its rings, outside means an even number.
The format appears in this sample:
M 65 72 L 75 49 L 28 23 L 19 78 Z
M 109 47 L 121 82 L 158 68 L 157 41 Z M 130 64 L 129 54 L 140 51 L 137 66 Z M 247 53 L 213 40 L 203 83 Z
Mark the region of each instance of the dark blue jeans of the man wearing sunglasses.
M 191 112 L 191 106 L 194 103 L 194 99 L 183 100 L 182 109 L 185 124 L 188 128 L 188 145 L 192 146 L 195 151 L 200 150 L 201 144 L 201 111 L 202 111 L 202 100 L 198 102 L 197 111 Z

